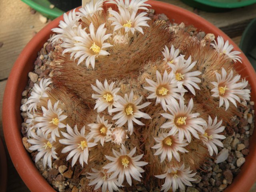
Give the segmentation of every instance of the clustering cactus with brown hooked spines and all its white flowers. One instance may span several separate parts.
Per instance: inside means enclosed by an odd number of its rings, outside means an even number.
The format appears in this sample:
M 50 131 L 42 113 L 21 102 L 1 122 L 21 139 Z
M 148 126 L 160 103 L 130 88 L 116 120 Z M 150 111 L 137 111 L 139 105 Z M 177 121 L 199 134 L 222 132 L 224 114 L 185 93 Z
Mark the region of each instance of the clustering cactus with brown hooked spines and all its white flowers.
M 164 192 L 191 186 L 223 147 L 237 105 L 250 100 L 234 68 L 240 52 L 220 36 L 200 42 L 189 26 L 170 31 L 143 12 L 148 6 L 100 0 L 64 14 L 51 39 L 54 76 L 35 84 L 26 103 L 36 161 L 81 166 L 88 191 L 133 180 L 164 183 Z

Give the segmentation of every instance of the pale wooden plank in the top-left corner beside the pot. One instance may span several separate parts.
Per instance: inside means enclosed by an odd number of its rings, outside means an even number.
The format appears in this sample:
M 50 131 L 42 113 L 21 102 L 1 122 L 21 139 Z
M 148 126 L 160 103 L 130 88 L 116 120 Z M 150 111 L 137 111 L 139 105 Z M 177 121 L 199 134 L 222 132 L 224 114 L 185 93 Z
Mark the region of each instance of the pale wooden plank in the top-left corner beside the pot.
M 0 1 L 0 80 L 6 79 L 21 50 L 46 24 L 39 20 L 39 13 L 30 13 L 21 0 Z

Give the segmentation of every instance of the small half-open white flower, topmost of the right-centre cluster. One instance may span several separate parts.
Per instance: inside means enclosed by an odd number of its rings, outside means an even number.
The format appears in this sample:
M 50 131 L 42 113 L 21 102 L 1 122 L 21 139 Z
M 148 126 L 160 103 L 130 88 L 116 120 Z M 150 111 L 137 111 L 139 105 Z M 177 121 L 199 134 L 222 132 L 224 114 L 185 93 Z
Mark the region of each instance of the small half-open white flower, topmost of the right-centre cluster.
M 171 46 L 170 52 L 167 46 L 165 46 L 164 51 L 162 51 L 162 54 L 164 56 L 164 61 L 167 62 L 167 64 L 178 64 L 179 58 L 184 57 L 183 55 L 180 55 L 180 50 L 175 49 L 174 46 Z

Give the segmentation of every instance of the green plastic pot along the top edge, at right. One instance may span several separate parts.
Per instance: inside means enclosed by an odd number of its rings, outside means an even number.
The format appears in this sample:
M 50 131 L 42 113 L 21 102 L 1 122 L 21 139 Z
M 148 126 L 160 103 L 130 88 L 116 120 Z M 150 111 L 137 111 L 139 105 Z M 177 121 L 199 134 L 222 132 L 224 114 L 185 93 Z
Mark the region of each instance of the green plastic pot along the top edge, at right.
M 181 0 L 182 2 L 208 12 L 224 12 L 256 3 L 256 0 Z

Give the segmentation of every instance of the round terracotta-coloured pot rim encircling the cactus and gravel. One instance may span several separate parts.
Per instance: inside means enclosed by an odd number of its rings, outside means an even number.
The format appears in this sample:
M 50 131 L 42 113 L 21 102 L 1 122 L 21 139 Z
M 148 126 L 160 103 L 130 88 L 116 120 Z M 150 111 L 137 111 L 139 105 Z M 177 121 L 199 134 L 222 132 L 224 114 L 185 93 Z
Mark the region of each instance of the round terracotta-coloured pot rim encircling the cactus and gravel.
M 206 33 L 213 33 L 215 36 L 220 35 L 224 40 L 229 40 L 234 45 L 235 50 L 241 51 L 224 32 L 200 16 L 164 2 L 150 0 L 148 3 L 152 5 L 156 13 L 164 13 L 168 18 L 174 19 L 177 23 L 184 22 L 187 25 L 193 24 L 196 28 Z M 57 27 L 59 21 L 62 19 L 63 16 L 56 18 L 38 32 L 26 45 L 12 68 L 4 92 L 2 113 L 4 137 L 16 170 L 32 192 L 51 192 L 54 191 L 54 189 L 37 170 L 34 162 L 31 160 L 22 144 L 22 135 L 20 133 L 22 123 L 20 116 L 21 93 L 27 85 L 28 72 L 33 70 L 33 63 L 36 60 L 37 52 L 49 38 L 49 35 L 52 33 L 51 29 Z M 254 83 L 256 82 L 256 73 L 246 56 L 244 56 L 244 54 L 240 56 L 242 57 L 243 64 L 238 68 L 242 69 L 241 75 L 246 77 L 252 87 L 251 100 L 256 101 L 256 84 Z M 254 132 L 250 139 L 250 153 L 246 157 L 246 162 L 242 166 L 240 174 L 234 179 L 232 185 L 225 190 L 226 192 L 245 192 L 252 186 L 256 178 L 256 140 L 252 139 L 255 137 L 256 132 Z

